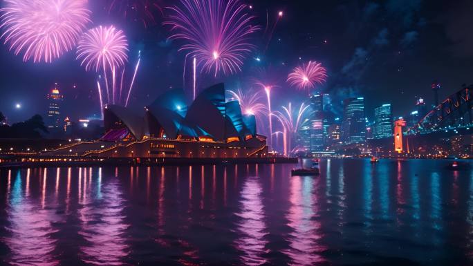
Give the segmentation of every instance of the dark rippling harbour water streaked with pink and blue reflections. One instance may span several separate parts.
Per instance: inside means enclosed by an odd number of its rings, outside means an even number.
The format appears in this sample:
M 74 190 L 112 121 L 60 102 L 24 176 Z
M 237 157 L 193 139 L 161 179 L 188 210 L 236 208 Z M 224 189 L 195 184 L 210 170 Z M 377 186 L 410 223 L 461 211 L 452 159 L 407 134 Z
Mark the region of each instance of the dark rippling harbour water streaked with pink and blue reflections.
M 473 172 L 448 163 L 0 169 L 0 263 L 472 265 Z

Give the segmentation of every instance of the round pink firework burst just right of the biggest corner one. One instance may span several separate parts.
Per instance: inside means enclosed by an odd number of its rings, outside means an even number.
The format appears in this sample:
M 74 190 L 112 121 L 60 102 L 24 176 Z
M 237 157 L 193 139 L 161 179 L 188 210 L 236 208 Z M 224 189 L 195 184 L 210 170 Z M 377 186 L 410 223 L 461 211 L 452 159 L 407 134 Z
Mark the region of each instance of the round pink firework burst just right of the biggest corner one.
M 114 26 L 98 26 L 84 34 L 77 46 L 77 60 L 87 71 L 106 71 L 123 66 L 128 60 L 127 37 Z

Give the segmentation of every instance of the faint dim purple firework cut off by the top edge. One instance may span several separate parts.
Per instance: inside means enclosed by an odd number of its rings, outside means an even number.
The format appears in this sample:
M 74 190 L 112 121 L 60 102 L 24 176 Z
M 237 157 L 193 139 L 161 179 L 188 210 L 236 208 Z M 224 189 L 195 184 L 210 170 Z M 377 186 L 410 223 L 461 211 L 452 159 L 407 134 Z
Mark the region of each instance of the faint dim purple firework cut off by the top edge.
M 106 0 L 105 6 L 109 13 L 118 12 L 127 19 L 140 21 L 145 28 L 149 24 L 156 24 L 156 12 L 163 13 L 160 0 Z

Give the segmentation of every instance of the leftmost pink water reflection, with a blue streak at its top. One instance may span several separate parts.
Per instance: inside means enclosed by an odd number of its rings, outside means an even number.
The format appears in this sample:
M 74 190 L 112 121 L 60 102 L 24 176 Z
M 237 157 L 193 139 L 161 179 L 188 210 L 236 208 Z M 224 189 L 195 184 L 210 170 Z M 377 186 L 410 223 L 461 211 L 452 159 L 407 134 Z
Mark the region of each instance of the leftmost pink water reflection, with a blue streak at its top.
M 30 169 L 27 171 L 29 178 Z M 25 191 L 29 191 L 27 179 Z M 58 265 L 53 256 L 56 242 L 53 234 L 55 214 L 53 210 L 45 210 L 35 205 L 34 200 L 23 197 L 21 172 L 15 178 L 12 194 L 6 210 L 8 222 L 6 227 L 9 236 L 3 238 L 10 249 L 8 263 L 11 265 Z

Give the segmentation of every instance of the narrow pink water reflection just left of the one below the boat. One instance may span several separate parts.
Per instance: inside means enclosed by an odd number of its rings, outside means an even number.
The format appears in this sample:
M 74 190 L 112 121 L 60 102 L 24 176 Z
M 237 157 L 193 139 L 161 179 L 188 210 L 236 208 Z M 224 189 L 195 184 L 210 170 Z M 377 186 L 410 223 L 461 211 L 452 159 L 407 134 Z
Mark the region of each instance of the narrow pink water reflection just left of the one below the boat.
M 241 218 L 236 224 L 236 229 L 239 231 L 236 248 L 243 251 L 241 260 L 245 265 L 266 263 L 263 255 L 268 252 L 265 247 L 268 241 L 264 238 L 268 231 L 264 222 L 261 191 L 257 177 L 247 178 L 241 191 L 241 210 L 235 213 Z

